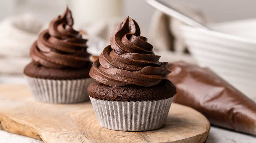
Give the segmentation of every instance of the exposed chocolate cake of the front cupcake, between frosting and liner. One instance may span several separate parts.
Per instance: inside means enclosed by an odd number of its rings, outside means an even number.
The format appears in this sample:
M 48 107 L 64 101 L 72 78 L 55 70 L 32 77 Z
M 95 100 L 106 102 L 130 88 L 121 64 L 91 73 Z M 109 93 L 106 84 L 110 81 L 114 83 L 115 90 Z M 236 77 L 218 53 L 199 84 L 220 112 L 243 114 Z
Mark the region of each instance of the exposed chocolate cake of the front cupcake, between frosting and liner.
M 92 82 L 87 88 L 91 97 L 107 101 L 157 101 L 168 99 L 176 94 L 175 86 L 169 81 L 162 81 L 153 87 L 130 85 L 110 87 L 99 82 Z

